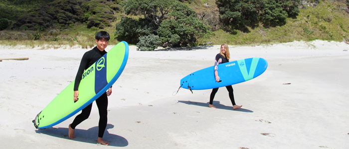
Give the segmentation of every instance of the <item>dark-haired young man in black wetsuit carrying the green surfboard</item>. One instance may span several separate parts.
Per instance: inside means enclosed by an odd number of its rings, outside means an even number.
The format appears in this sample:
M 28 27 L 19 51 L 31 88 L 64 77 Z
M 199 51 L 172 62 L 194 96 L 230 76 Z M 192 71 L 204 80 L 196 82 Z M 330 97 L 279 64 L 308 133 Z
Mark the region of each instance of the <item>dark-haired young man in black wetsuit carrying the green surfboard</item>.
M 108 46 L 108 42 L 109 42 L 110 36 L 108 34 L 108 32 L 106 31 L 100 31 L 96 34 L 96 43 L 97 46 L 94 47 L 92 50 L 87 51 L 80 62 L 80 66 L 79 66 L 79 70 L 76 74 L 75 77 L 75 84 L 74 84 L 74 102 L 78 101 L 79 98 L 79 84 L 81 81 L 81 77 L 83 72 L 88 69 L 92 64 L 94 64 L 98 59 L 100 59 L 104 54 L 106 54 L 107 52 L 104 50 L 105 48 L 107 48 Z M 103 134 L 104 131 L 107 127 L 107 107 L 108 107 L 108 97 L 110 94 L 112 94 L 112 88 L 110 87 L 108 89 L 107 92 L 105 92 L 104 94 L 102 94 L 99 98 L 96 99 L 96 104 L 98 107 L 98 111 L 99 111 L 99 123 L 98 123 L 98 139 L 97 142 L 102 144 L 102 145 L 106 145 L 108 146 L 109 143 L 104 141 L 103 138 Z M 90 105 L 88 105 L 87 107 L 85 107 L 84 109 L 82 109 L 82 112 L 77 115 L 73 121 L 73 123 L 71 123 L 69 125 L 69 138 L 70 139 L 74 139 L 74 129 L 77 125 L 79 125 L 82 121 L 86 120 L 90 113 L 91 113 L 91 108 L 92 108 L 92 103 Z

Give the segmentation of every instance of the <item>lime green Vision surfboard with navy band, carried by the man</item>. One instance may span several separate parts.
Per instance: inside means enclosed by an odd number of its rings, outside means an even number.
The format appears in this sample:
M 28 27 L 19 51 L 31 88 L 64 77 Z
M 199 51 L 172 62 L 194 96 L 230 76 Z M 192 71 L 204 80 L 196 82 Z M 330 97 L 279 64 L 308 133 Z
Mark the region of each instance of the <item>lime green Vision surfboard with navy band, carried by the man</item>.
M 74 81 L 63 89 L 32 121 L 35 128 L 55 126 L 91 104 L 110 88 L 123 72 L 129 45 L 122 41 L 84 71 L 79 84 L 79 100 L 74 102 Z

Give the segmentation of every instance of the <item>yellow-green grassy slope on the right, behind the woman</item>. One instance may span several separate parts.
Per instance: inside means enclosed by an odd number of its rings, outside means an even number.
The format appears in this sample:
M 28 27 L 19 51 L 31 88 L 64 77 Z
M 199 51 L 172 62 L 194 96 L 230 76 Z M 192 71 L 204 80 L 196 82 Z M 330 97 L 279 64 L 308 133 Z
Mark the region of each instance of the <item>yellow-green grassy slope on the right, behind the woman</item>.
M 294 40 L 311 41 L 316 39 L 343 41 L 348 39 L 349 14 L 341 10 L 347 7 L 344 3 L 335 1 L 322 1 L 315 8 L 301 9 L 297 18 L 288 18 L 286 25 L 275 28 L 262 26 L 250 29 L 250 33 L 237 31 L 233 35 L 223 30 L 215 31 L 215 35 L 208 39 L 200 39 L 199 43 L 212 41 L 213 44 L 228 43 L 241 44 L 266 44 L 282 43 Z M 331 20 L 331 21 L 330 21 Z

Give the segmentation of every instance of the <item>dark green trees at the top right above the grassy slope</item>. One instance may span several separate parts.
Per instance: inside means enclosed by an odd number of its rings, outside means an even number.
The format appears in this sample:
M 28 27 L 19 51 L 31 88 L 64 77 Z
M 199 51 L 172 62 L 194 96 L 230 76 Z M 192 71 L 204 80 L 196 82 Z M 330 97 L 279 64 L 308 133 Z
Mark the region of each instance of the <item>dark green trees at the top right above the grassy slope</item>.
M 229 29 L 284 25 L 287 17 L 298 15 L 300 0 L 216 0 L 220 19 Z

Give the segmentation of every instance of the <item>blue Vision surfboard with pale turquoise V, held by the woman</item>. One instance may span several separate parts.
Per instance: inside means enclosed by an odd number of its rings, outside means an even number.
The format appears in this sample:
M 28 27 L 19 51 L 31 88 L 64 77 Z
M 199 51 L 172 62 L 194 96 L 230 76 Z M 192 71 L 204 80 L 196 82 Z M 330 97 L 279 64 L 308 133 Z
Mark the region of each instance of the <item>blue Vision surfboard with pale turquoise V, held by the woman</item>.
M 200 90 L 244 82 L 263 74 L 268 67 L 268 63 L 263 58 L 248 58 L 218 64 L 218 76 L 220 78 L 218 82 L 215 79 L 213 67 L 186 75 L 180 79 L 180 87 Z

